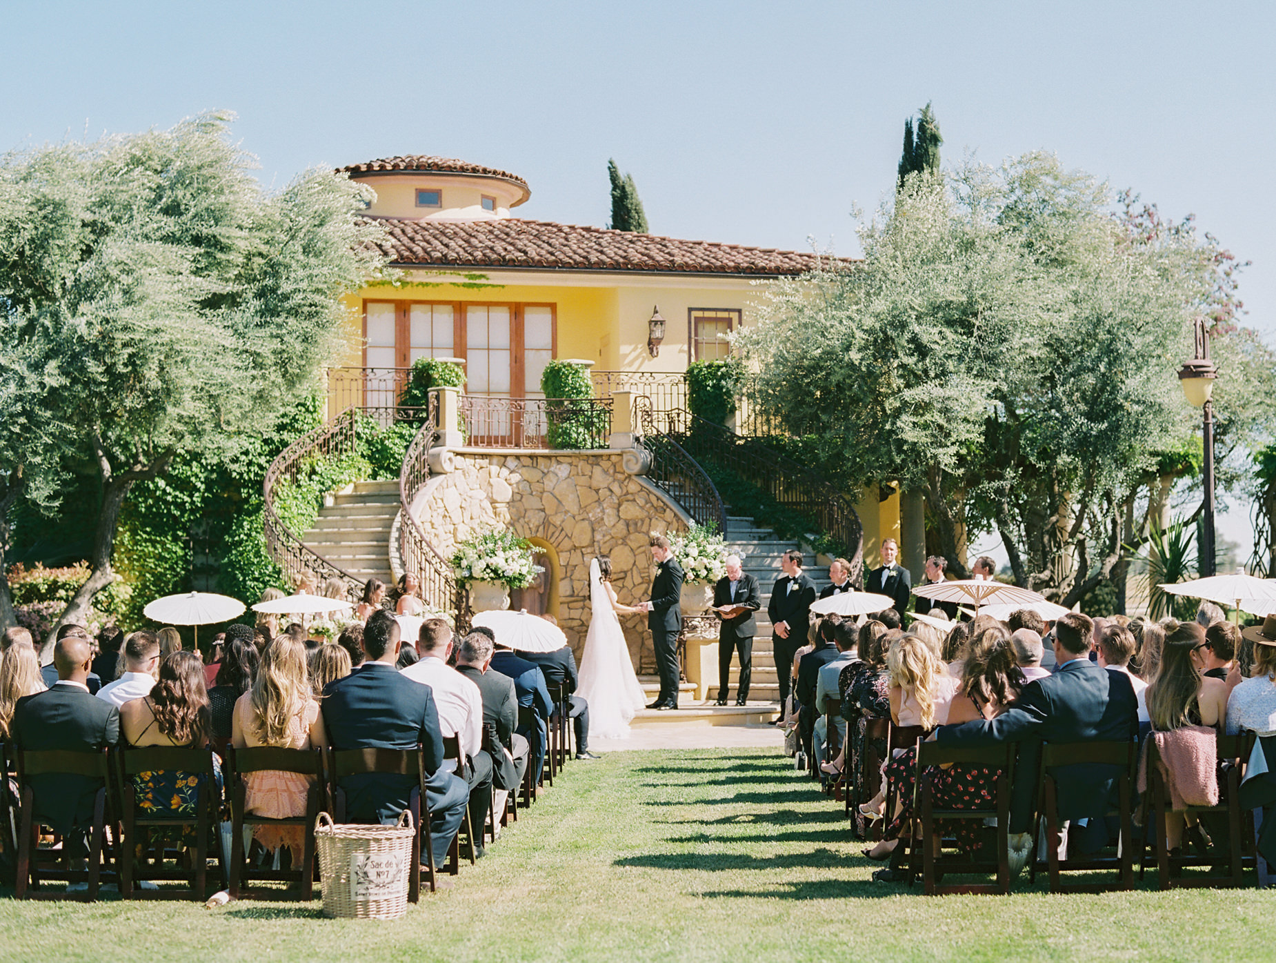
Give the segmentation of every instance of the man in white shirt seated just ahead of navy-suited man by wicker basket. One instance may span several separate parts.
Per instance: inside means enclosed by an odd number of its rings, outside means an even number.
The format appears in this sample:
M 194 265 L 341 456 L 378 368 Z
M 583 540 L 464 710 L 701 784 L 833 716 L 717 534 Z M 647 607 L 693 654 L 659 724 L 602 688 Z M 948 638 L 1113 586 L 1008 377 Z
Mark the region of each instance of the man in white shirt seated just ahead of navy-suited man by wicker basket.
M 452 626 L 441 619 L 426 619 L 416 638 L 420 661 L 403 670 L 413 682 L 430 686 L 439 710 L 443 737 L 457 736 L 461 756 L 467 761 L 457 770 L 454 760 L 443 763 L 470 784 L 470 824 L 476 842 L 475 856 L 482 856 L 482 828 L 491 805 L 491 756 L 482 747 L 482 695 L 478 686 L 448 665 L 452 652 Z

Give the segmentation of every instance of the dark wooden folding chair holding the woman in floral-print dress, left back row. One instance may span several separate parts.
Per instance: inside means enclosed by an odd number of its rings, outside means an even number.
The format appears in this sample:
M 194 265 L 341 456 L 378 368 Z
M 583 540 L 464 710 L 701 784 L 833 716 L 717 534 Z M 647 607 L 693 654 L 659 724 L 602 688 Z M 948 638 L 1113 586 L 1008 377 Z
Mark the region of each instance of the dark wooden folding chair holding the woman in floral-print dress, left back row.
M 217 792 L 217 773 L 213 767 L 212 749 L 191 749 L 188 746 L 142 746 L 140 749 L 124 749 L 116 755 L 116 782 L 121 800 L 121 819 L 124 833 L 120 841 L 120 864 L 122 867 L 122 880 L 120 889 L 125 899 L 144 897 L 149 899 L 174 899 L 188 897 L 203 899 L 208 880 L 208 848 L 212 842 L 213 857 L 217 860 L 219 879 L 226 878 L 226 866 L 222 864 L 222 847 L 219 839 L 212 837 L 219 830 L 219 798 Z M 139 815 L 133 777 L 140 773 L 182 773 L 185 778 L 197 779 L 195 815 L 179 816 L 172 814 Z M 182 827 L 195 827 L 195 844 L 186 847 L 182 843 L 170 846 L 157 838 L 147 841 L 147 830 L 156 832 L 163 829 L 181 829 Z M 147 842 L 152 858 L 148 861 L 139 851 L 147 848 Z M 188 856 L 193 860 L 193 870 L 182 867 L 181 860 Z M 165 864 L 172 860 L 174 866 Z M 134 884 L 142 881 L 181 881 L 188 885 L 185 889 L 154 889 L 134 892 Z

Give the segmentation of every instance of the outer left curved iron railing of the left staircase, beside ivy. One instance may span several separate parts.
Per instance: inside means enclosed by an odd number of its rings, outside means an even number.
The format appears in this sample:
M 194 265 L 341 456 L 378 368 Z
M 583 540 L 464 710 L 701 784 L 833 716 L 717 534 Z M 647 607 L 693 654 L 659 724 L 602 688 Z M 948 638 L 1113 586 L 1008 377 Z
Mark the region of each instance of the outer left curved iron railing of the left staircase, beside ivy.
M 283 519 L 279 518 L 274 495 L 281 481 L 295 485 L 297 473 L 316 457 L 342 458 L 353 454 L 359 446 L 359 415 L 357 408 L 346 408 L 328 423 L 299 437 L 271 462 L 262 485 L 265 546 L 283 570 L 287 580 L 297 584 L 304 573 L 313 574 L 319 584 L 327 579 L 337 578 L 346 583 L 346 591 L 351 599 L 359 598 L 364 583 L 313 548 L 308 548 L 301 541 L 304 533 L 290 531 Z

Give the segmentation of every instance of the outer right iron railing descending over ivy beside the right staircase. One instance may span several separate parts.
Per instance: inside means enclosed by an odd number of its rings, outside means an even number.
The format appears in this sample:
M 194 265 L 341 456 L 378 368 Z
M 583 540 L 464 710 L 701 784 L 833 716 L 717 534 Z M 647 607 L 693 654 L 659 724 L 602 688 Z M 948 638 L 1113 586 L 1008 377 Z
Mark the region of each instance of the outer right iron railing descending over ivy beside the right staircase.
M 670 422 L 671 434 L 697 463 L 730 472 L 840 542 L 851 562 L 851 579 L 864 584 L 864 526 L 849 495 L 758 439 L 685 412 Z

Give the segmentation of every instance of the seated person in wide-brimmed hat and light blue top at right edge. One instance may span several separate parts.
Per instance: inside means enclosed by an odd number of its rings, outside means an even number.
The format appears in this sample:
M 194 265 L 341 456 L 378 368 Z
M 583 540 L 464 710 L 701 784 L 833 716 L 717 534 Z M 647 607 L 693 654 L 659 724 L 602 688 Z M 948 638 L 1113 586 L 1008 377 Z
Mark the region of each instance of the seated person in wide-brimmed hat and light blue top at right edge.
M 1250 772 L 1240 783 L 1240 807 L 1262 809 L 1258 852 L 1271 866 L 1276 865 L 1276 745 L 1272 739 L 1276 736 L 1276 615 L 1268 615 L 1262 625 L 1245 629 L 1243 635 L 1254 649 L 1253 676 L 1231 690 L 1225 718 L 1228 735 L 1254 732 L 1262 740 L 1250 761 L 1257 761 L 1261 754 L 1266 772 L 1253 774 L 1252 770 L 1263 767 L 1248 767 Z

